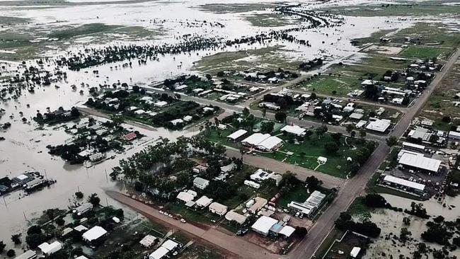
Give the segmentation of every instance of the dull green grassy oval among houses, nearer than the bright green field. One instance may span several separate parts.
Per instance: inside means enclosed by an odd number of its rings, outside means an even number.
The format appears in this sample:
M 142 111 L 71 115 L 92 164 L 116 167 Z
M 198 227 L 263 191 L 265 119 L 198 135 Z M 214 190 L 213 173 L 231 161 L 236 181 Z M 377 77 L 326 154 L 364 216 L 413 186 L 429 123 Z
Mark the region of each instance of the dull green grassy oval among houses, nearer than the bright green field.
M 304 81 L 300 87 L 323 95 L 346 97 L 350 91 L 361 88 L 361 80 L 350 77 L 321 75 Z

